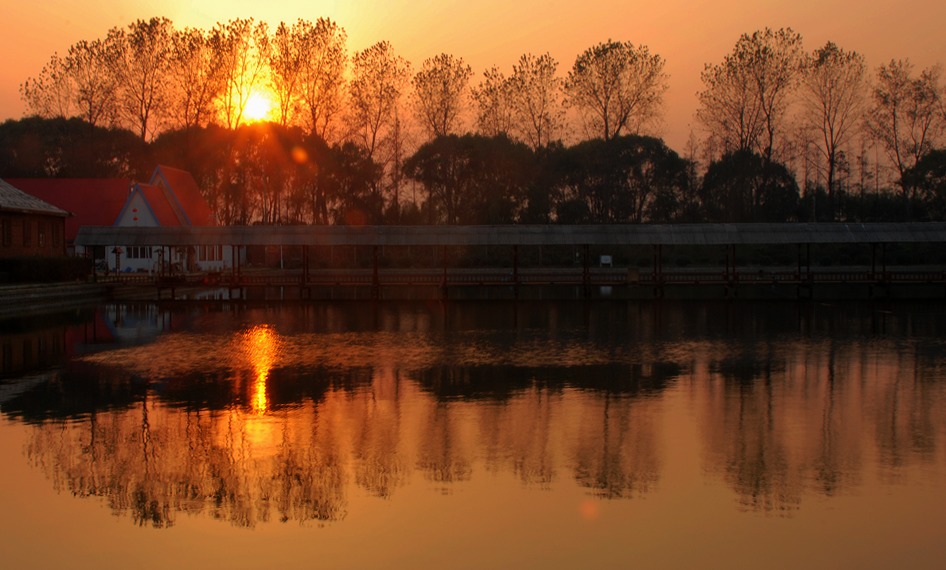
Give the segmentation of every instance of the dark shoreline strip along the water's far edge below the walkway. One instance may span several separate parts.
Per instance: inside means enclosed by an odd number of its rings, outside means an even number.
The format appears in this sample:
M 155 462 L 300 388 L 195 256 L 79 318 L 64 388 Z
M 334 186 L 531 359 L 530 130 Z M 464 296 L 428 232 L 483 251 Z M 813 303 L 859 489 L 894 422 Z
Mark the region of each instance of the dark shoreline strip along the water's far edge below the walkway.
M 451 286 L 384 284 L 225 285 L 180 284 L 176 294 L 142 282 L 68 282 L 0 286 L 0 319 L 29 317 L 108 302 L 144 303 L 300 303 L 398 301 L 936 301 L 946 300 L 943 283 L 653 283 L 483 284 Z

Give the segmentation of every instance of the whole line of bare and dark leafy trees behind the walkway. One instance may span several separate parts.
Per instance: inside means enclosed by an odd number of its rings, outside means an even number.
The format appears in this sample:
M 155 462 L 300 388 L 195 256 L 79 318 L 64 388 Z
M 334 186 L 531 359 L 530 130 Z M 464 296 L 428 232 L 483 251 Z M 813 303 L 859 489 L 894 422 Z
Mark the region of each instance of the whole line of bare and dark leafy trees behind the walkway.
M 412 71 L 349 54 L 327 19 L 211 30 L 164 18 L 81 41 L 21 85 L 0 173 L 195 173 L 223 223 L 610 223 L 937 219 L 938 67 L 873 74 L 791 29 L 743 34 L 701 79 L 685 156 L 652 136 L 665 61 L 608 40 L 564 74 L 525 54 L 478 84 L 462 58 Z M 249 122 L 254 93 L 271 121 Z M 80 126 L 81 123 L 81 126 Z M 76 138 L 78 137 L 78 138 Z M 67 142 L 68 141 L 68 142 Z M 150 164 L 149 164 L 150 161 Z M 92 173 L 91 170 L 101 169 Z M 89 171 L 89 172 L 80 172 Z

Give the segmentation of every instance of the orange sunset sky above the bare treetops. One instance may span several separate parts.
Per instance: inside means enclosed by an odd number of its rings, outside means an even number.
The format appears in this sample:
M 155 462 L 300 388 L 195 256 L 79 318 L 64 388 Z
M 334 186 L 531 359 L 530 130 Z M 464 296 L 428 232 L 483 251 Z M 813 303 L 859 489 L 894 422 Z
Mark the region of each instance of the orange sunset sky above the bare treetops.
M 694 122 L 700 71 L 728 53 L 739 35 L 763 27 L 791 27 L 806 51 L 831 40 L 863 53 L 873 70 L 894 58 L 918 68 L 946 63 L 946 3 L 905 0 L 45 0 L 4 2 L 0 120 L 19 118 L 19 85 L 37 75 L 54 52 L 79 40 L 104 37 L 109 28 L 165 16 L 175 26 L 210 29 L 238 17 L 271 26 L 298 18 L 328 17 L 348 33 L 349 51 L 388 40 L 420 63 L 442 52 L 462 57 L 482 72 L 497 65 L 506 74 L 520 55 L 549 52 L 562 76 L 584 49 L 609 38 L 647 45 L 667 61 L 670 90 L 660 134 L 682 149 Z

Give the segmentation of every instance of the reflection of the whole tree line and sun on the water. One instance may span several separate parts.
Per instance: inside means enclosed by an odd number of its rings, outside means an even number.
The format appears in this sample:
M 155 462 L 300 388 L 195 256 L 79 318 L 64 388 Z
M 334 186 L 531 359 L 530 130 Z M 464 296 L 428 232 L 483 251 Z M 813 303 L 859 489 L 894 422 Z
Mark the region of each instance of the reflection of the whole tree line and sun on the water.
M 706 476 L 746 511 L 790 516 L 867 470 L 892 481 L 944 460 L 936 311 L 514 310 L 162 315 L 153 342 L 76 354 L 3 413 L 31 424 L 26 455 L 57 489 L 157 527 L 322 524 L 356 492 L 420 478 L 451 493 L 485 473 L 639 499 L 693 423 Z

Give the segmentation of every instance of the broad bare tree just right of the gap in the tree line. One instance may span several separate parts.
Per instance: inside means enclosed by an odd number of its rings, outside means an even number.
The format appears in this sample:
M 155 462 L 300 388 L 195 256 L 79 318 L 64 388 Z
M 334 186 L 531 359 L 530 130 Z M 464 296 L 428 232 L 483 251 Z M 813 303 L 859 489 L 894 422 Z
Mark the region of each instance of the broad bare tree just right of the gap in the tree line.
M 790 28 L 743 34 L 701 79 L 697 117 L 726 151 L 749 150 L 772 159 L 802 63 L 801 36 Z

